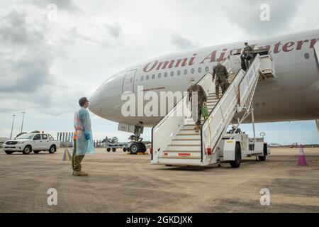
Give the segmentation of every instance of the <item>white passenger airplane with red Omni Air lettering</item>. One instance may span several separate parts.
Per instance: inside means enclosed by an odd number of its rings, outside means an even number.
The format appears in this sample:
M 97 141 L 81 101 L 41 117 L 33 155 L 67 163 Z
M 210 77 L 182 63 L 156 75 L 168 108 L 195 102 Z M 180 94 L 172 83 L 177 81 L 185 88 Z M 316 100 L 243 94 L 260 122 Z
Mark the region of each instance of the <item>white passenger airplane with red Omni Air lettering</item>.
M 319 30 L 248 41 L 254 50 L 267 48 L 276 66 L 276 79 L 257 85 L 255 122 L 319 119 L 318 40 Z M 186 91 L 191 78 L 198 81 L 206 72 L 212 72 L 218 59 L 240 55 L 244 43 L 173 53 L 128 67 L 101 84 L 90 99 L 89 109 L 139 138 L 143 127 L 155 126 L 162 116 L 123 116 L 124 92 L 136 94 L 138 86 L 157 93 Z

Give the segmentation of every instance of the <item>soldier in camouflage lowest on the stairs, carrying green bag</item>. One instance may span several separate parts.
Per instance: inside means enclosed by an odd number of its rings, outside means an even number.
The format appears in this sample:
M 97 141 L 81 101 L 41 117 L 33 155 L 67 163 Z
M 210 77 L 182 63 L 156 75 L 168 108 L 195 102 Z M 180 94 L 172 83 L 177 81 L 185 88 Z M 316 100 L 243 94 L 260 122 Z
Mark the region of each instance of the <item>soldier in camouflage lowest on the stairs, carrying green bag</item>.
M 192 97 L 193 97 L 193 92 L 197 92 L 197 97 L 198 97 L 198 103 L 197 103 L 197 121 L 196 121 L 196 127 L 195 132 L 198 133 L 198 131 L 201 129 L 201 108 L 203 107 L 204 104 L 206 104 L 207 101 L 207 96 L 206 92 L 203 90 L 203 87 L 201 85 L 195 84 L 195 80 L 191 79 L 191 87 L 187 89 L 187 92 L 189 92 L 189 101 L 192 102 Z

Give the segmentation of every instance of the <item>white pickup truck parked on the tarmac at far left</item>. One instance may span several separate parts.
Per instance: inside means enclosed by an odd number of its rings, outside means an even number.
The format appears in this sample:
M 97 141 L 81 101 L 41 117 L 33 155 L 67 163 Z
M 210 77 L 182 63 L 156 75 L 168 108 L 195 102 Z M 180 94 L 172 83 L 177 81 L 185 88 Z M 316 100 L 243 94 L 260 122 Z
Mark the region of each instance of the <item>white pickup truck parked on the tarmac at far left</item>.
M 14 152 L 22 152 L 23 155 L 28 155 L 32 151 L 38 154 L 42 150 L 53 154 L 57 151 L 57 148 L 60 148 L 60 140 L 55 140 L 52 135 L 47 133 L 26 133 L 4 143 L 4 152 L 7 155 Z

